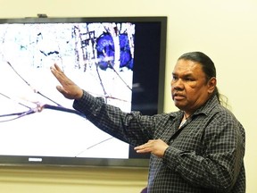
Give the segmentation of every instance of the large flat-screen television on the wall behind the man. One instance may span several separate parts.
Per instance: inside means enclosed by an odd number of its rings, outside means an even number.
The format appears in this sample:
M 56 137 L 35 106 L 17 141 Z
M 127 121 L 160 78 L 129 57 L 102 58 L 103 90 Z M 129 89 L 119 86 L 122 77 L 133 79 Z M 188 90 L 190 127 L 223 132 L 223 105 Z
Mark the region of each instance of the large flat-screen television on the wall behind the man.
M 0 19 L 0 164 L 147 167 L 57 90 L 71 80 L 125 112 L 163 112 L 167 17 Z

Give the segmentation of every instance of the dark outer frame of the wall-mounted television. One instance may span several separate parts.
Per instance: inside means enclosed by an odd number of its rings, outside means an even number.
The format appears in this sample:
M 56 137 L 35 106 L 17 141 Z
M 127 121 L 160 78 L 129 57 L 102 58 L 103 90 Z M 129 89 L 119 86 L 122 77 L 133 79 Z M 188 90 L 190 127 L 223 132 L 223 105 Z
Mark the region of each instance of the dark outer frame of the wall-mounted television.
M 160 22 L 160 62 L 158 83 L 158 110 L 163 113 L 164 79 L 166 64 L 166 41 L 167 41 L 167 16 L 133 16 L 133 17 L 35 17 L 35 18 L 12 18 L 0 19 L 0 25 L 4 23 L 61 23 L 61 22 Z M 132 108 L 132 110 L 135 110 Z M 130 147 L 129 147 L 130 148 Z M 33 160 L 29 162 L 29 159 Z M 104 167 L 148 167 L 149 155 L 140 155 L 129 159 L 116 158 L 83 158 L 83 157 L 54 157 L 54 156 L 23 156 L 23 155 L 0 155 L 0 165 L 8 166 L 104 166 Z

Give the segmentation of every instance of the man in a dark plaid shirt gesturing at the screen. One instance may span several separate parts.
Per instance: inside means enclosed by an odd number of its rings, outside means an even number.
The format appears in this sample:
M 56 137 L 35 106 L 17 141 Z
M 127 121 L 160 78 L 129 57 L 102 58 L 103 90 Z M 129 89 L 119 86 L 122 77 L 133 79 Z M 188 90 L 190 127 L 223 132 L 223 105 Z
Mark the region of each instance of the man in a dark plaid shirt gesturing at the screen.
M 245 130 L 220 105 L 216 69 L 201 52 L 181 55 L 172 72 L 177 112 L 153 116 L 123 113 L 90 96 L 54 64 L 63 96 L 90 122 L 128 142 L 138 154 L 151 153 L 148 192 L 245 192 Z

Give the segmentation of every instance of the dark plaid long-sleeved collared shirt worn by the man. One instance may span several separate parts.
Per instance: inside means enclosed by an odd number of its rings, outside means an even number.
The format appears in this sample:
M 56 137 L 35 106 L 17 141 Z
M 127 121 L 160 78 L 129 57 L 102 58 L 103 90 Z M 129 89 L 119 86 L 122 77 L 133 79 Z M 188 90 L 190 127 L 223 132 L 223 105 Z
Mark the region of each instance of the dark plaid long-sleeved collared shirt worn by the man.
M 132 146 L 157 138 L 169 145 L 162 158 L 151 155 L 148 192 L 245 193 L 245 130 L 216 96 L 180 129 L 181 111 L 153 116 L 123 113 L 85 91 L 73 107 Z

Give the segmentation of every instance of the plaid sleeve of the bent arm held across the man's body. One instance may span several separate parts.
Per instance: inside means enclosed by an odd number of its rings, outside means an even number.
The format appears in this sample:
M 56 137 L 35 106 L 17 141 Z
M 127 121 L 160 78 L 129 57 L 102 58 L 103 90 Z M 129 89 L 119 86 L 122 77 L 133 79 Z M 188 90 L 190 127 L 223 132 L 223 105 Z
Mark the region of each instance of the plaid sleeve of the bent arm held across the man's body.
M 220 113 L 203 133 L 202 155 L 168 147 L 162 159 L 170 169 L 188 182 L 205 187 L 229 191 L 244 167 L 245 130 L 233 115 Z

